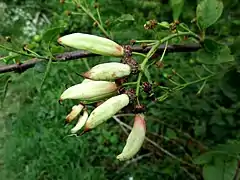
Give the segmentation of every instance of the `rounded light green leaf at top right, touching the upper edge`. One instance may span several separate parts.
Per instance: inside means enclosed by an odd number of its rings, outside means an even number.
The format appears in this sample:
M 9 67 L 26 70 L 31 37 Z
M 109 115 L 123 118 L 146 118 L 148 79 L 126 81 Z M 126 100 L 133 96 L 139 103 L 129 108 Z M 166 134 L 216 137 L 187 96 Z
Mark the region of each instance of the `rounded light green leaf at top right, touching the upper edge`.
M 219 0 L 203 0 L 197 6 L 197 22 L 201 29 L 213 25 L 223 12 L 223 3 Z

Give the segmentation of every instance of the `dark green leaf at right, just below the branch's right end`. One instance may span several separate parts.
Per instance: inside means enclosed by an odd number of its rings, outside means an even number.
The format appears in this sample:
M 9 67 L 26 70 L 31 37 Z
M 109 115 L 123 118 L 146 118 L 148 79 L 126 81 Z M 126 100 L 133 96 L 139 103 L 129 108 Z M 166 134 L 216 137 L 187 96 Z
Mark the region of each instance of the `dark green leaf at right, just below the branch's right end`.
M 206 39 L 204 49 L 197 52 L 197 61 L 203 64 L 220 64 L 234 61 L 234 56 L 228 46 Z

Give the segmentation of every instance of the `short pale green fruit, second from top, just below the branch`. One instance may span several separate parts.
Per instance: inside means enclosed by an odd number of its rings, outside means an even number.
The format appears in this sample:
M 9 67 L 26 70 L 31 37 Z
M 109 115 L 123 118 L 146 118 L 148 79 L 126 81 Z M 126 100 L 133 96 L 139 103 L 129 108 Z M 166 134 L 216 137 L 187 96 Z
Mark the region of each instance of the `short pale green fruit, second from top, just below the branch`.
M 115 80 L 121 77 L 128 76 L 131 73 L 131 67 L 127 64 L 111 62 L 103 63 L 94 66 L 83 76 L 92 80 Z

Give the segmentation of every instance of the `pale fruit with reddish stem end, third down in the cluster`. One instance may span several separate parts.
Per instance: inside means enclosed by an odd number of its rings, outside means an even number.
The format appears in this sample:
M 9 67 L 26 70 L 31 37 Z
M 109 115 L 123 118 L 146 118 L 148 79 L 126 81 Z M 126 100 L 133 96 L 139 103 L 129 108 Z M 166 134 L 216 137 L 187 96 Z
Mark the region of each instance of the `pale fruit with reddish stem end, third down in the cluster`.
M 114 82 L 89 81 L 66 89 L 60 96 L 60 101 L 65 99 L 79 99 L 82 101 L 91 99 L 101 100 L 116 90 L 117 85 Z

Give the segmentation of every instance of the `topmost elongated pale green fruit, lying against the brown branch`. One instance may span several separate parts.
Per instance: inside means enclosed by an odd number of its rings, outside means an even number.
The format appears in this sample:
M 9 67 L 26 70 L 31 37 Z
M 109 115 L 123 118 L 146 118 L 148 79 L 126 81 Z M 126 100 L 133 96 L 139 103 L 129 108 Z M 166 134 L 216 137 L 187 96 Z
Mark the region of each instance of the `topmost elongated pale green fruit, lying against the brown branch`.
M 123 47 L 114 41 L 83 33 L 73 33 L 58 39 L 58 43 L 104 56 L 123 56 Z

